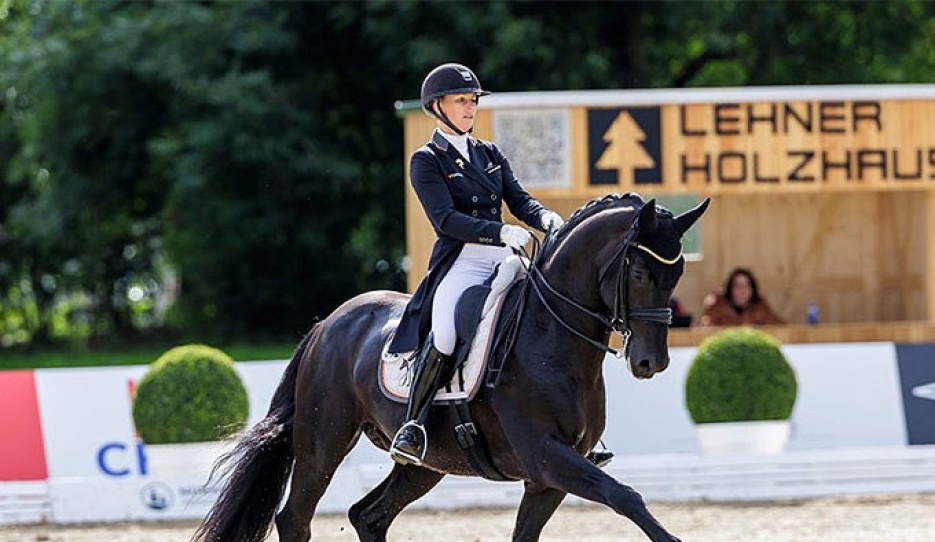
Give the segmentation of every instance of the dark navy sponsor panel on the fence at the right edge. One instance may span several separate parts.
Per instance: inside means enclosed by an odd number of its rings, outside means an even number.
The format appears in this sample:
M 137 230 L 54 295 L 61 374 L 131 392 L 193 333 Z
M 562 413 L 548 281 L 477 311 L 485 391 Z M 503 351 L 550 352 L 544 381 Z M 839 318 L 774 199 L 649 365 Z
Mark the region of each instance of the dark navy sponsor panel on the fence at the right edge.
M 909 444 L 935 444 L 935 344 L 896 346 Z

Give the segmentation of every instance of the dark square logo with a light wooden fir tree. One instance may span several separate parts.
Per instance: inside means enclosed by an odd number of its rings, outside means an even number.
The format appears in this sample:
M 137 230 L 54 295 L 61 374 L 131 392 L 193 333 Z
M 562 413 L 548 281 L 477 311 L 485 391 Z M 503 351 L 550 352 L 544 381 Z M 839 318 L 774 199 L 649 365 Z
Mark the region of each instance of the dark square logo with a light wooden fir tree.
M 588 110 L 589 184 L 661 184 L 658 107 Z

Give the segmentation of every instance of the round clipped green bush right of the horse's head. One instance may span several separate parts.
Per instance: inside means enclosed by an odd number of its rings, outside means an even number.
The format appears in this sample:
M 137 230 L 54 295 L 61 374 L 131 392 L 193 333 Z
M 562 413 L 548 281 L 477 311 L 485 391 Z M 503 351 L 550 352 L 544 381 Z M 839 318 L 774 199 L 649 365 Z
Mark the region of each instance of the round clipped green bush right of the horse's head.
M 779 341 L 738 327 L 701 343 L 685 380 L 685 404 L 695 423 L 786 420 L 797 390 Z

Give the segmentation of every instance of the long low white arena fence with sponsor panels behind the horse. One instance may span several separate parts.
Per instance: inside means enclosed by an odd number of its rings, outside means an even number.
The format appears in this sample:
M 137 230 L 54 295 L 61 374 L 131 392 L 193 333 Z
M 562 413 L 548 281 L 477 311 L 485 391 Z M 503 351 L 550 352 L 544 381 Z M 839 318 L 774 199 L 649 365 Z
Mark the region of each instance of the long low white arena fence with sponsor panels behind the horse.
M 637 381 L 608 357 L 607 471 L 650 501 L 771 500 L 935 492 L 935 345 L 787 345 L 799 395 L 786 451 L 706 457 L 685 410 L 695 348 Z M 265 413 L 285 361 L 238 363 L 251 423 Z M 146 367 L 0 372 L 0 524 L 200 518 L 203 480 L 160 478 L 135 436 L 131 383 Z M 336 473 L 322 513 L 344 513 L 392 462 L 361 442 Z M 448 477 L 413 507 L 516 506 L 521 483 Z M 569 503 L 580 503 L 575 497 Z

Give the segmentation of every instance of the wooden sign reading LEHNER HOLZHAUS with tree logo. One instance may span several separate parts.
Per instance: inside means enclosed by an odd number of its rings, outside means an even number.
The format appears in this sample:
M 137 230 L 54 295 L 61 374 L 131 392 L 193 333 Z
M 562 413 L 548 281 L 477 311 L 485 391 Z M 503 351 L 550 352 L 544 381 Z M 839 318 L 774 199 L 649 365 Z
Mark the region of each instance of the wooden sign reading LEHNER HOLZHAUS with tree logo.
M 935 187 L 935 101 L 588 109 L 588 185 L 731 193 Z

